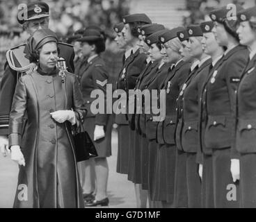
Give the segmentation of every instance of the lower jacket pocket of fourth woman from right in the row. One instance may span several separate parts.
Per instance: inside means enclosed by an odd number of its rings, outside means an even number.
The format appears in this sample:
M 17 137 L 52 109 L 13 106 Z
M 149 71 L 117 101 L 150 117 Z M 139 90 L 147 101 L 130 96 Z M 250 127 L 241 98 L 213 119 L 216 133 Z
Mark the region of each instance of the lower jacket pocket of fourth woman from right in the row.
M 198 121 L 184 122 L 182 128 L 182 148 L 188 153 L 195 153 L 197 152 L 198 146 Z

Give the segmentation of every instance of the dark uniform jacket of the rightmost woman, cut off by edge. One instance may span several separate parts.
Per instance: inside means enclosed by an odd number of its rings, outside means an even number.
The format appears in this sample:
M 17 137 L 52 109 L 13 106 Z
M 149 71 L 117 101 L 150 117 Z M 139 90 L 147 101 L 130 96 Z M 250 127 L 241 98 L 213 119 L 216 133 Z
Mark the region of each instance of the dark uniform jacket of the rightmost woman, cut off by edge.
M 236 149 L 256 153 L 256 56 L 243 72 L 237 93 Z

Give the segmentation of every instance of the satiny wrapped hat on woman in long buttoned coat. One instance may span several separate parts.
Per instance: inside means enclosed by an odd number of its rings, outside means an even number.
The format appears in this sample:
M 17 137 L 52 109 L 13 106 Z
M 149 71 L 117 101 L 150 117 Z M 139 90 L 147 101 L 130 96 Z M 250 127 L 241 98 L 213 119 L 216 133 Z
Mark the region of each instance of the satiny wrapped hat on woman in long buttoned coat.
M 58 44 L 58 38 L 56 33 L 51 31 L 49 28 L 39 29 L 29 37 L 27 47 L 25 48 L 25 53 L 35 53 L 47 42 L 56 42 Z

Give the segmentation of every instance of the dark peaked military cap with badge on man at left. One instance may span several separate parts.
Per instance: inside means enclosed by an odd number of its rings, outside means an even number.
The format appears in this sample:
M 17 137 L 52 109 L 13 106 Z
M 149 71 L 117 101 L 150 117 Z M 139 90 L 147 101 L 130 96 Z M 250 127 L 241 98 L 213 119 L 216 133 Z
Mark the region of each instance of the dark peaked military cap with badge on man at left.
M 23 15 L 20 13 L 23 11 Z M 17 21 L 19 24 L 24 24 L 26 21 L 49 17 L 49 6 L 45 2 L 28 3 L 26 8 L 19 8 Z

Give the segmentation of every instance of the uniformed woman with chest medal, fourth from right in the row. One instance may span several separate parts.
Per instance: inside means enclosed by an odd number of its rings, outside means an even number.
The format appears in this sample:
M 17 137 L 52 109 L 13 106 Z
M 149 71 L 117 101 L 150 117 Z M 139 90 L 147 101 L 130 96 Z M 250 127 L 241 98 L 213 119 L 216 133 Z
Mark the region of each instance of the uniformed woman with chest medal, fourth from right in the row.
M 189 208 L 201 207 L 201 181 L 198 174 L 196 154 L 199 146 L 198 139 L 198 82 L 208 74 L 211 57 L 202 50 L 202 29 L 200 25 L 191 25 L 187 28 L 192 58 L 199 61 L 198 69 L 189 74 L 181 92 L 178 105 L 182 113 L 179 115 L 181 127 L 177 130 L 177 144 L 186 153 L 186 183 L 188 188 Z

